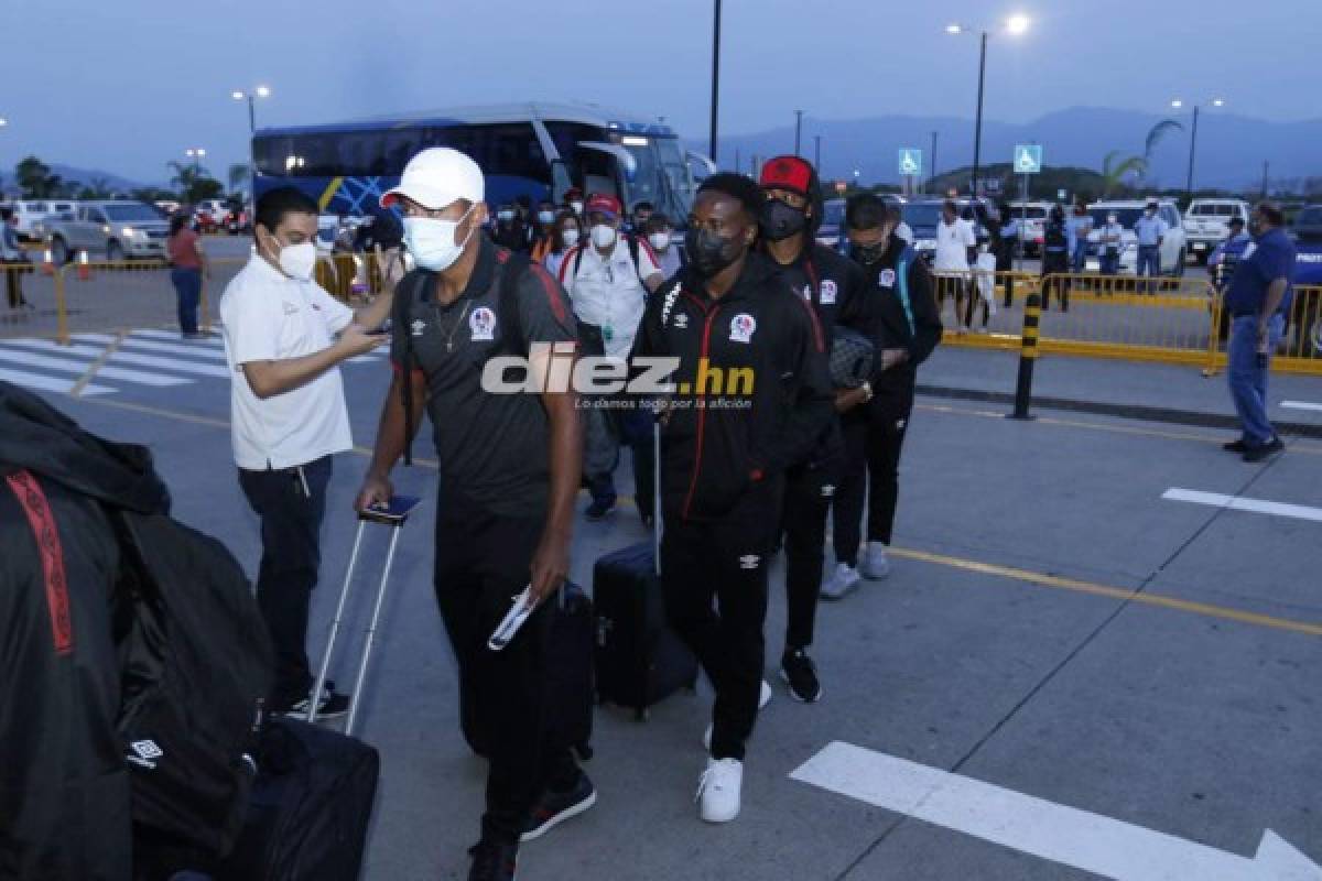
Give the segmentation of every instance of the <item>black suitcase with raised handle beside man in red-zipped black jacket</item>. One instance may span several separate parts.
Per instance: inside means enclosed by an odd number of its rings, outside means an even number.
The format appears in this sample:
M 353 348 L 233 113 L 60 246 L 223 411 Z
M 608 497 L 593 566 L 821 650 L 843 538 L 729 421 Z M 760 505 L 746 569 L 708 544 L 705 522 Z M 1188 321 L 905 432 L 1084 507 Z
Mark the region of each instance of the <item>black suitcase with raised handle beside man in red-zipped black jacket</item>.
M 652 429 L 652 542 L 607 553 L 592 568 L 598 699 L 632 708 L 639 721 L 649 707 L 698 682 L 698 660 L 666 625 L 661 596 L 660 424 Z

